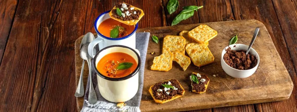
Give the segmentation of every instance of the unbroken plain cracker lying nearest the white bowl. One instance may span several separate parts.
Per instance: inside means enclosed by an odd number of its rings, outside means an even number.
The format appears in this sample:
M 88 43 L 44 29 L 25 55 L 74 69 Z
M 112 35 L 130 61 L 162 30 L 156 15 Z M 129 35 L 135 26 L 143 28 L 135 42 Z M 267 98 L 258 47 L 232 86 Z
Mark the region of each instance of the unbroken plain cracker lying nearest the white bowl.
M 185 48 L 194 65 L 198 67 L 214 62 L 214 56 L 206 44 L 190 43 Z

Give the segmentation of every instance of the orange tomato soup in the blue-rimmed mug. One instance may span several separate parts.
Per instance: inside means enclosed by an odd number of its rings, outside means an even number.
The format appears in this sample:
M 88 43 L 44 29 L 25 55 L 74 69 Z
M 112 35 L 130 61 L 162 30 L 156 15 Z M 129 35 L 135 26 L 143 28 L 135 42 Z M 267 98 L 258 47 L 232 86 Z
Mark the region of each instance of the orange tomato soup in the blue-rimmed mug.
M 121 38 L 124 36 L 129 35 L 130 33 L 133 32 L 135 26 L 134 25 L 126 25 L 124 23 L 121 23 L 119 21 L 113 20 L 112 18 L 108 18 L 106 20 L 104 20 L 102 23 L 100 23 L 99 27 L 98 27 L 98 31 L 107 37 L 110 37 L 110 32 L 114 29 L 114 28 L 118 28 L 118 36 L 117 37 L 111 37 L 111 38 Z

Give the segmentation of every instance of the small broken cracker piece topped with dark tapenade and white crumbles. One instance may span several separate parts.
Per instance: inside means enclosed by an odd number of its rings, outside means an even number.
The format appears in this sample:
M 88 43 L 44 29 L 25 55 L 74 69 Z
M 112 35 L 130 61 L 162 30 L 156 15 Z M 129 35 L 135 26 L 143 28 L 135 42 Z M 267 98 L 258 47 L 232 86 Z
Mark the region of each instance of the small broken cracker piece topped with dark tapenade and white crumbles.
M 198 83 L 194 82 L 192 80 L 192 75 L 190 76 L 192 92 L 198 94 L 205 93 L 210 81 L 208 76 L 195 72 L 192 72 L 192 74 L 195 75 L 198 79 Z

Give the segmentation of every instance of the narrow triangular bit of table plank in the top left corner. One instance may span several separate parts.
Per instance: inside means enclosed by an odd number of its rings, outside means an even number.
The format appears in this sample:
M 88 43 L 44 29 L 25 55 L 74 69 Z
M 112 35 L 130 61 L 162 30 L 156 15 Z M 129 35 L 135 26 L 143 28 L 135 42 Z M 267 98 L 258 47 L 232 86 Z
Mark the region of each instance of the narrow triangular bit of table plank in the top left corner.
M 12 27 L 17 0 L 0 0 L 0 62 Z

